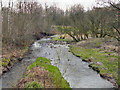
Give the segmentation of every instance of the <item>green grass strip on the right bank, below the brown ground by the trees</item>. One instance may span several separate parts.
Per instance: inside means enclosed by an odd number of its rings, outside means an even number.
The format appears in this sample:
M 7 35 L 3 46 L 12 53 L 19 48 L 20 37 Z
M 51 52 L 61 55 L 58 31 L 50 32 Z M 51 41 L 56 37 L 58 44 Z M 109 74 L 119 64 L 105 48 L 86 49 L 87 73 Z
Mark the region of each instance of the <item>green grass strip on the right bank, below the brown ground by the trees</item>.
M 106 74 L 108 77 L 113 77 L 117 82 L 120 82 L 118 81 L 118 56 L 105 56 L 106 53 L 100 52 L 99 49 L 86 49 L 75 45 L 70 46 L 70 51 L 86 61 L 90 59 L 93 62 L 90 66 L 98 69 L 100 74 Z M 111 58 L 114 58 L 114 60 Z M 97 64 L 97 62 L 101 62 L 101 64 Z

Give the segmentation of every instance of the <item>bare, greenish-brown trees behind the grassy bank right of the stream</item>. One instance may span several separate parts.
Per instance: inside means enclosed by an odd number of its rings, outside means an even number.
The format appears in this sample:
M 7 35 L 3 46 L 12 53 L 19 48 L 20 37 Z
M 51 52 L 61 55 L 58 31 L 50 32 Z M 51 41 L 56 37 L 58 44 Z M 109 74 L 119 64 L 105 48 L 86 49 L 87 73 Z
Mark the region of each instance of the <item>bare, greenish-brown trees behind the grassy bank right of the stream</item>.
M 120 6 L 120 4 L 115 5 Z M 84 11 L 81 5 L 74 5 L 65 12 L 64 23 L 56 28 L 69 34 L 75 41 L 89 37 L 110 36 L 120 41 L 120 10 L 113 7 L 93 7 Z

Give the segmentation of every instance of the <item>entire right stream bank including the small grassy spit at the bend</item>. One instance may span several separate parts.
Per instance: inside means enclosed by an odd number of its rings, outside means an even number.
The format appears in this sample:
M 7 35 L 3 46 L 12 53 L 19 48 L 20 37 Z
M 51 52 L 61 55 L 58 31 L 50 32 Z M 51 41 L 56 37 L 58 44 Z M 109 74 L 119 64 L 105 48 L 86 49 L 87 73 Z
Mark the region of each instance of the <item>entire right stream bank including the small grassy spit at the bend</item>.
M 63 35 L 65 36 L 65 35 Z M 89 38 L 80 42 L 74 42 L 69 36 L 64 39 L 56 37 L 55 41 L 67 41 L 70 43 L 70 52 L 89 63 L 89 67 L 95 70 L 104 79 L 113 83 L 118 88 L 118 42 L 114 38 Z

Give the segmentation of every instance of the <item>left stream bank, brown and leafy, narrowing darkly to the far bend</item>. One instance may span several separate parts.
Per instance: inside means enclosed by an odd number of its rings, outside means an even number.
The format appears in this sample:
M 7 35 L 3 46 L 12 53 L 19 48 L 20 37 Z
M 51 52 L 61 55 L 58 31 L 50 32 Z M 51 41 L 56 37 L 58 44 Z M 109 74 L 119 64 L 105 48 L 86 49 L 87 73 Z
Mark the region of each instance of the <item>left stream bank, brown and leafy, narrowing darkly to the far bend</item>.
M 27 54 L 31 52 L 29 49 L 35 41 L 51 35 L 53 34 L 40 33 L 39 35 L 35 35 L 35 39 L 31 40 L 25 46 L 3 45 L 2 60 L 0 60 L 0 70 L 2 72 L 0 72 L 0 76 L 9 71 L 16 63 L 19 63 L 25 58 L 25 56 L 27 56 Z

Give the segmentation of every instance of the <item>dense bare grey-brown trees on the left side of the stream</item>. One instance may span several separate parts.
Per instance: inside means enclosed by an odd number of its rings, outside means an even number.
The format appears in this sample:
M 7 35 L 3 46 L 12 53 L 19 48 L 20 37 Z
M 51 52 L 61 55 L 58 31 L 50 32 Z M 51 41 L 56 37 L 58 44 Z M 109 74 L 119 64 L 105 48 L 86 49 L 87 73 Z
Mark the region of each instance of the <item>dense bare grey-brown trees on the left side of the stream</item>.
M 53 24 L 59 23 L 64 12 L 55 6 L 45 8 L 37 2 L 18 2 L 16 9 L 2 7 L 2 38 L 3 46 L 29 45 L 41 33 L 53 34 Z

